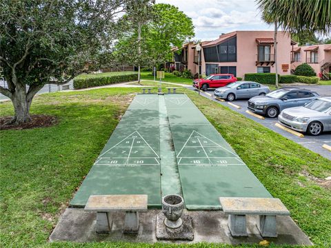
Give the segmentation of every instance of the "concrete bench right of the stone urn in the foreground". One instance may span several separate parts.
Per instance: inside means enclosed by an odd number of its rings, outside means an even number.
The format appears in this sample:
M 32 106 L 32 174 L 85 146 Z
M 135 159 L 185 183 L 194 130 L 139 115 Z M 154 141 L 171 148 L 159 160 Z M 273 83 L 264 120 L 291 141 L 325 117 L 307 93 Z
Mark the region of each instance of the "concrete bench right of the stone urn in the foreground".
M 289 216 L 279 198 L 241 198 L 220 197 L 224 214 L 229 214 L 228 226 L 232 236 L 248 236 L 246 231 L 246 215 L 257 215 L 257 228 L 261 236 L 277 238 L 276 216 Z

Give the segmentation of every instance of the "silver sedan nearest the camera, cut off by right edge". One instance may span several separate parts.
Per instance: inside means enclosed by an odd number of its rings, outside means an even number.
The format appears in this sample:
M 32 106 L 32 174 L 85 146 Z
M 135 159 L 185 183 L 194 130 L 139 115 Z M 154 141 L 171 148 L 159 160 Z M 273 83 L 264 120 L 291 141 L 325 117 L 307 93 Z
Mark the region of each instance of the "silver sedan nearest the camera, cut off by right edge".
M 331 131 L 331 97 L 322 97 L 301 107 L 283 110 L 278 120 L 292 130 L 308 132 L 310 135 Z

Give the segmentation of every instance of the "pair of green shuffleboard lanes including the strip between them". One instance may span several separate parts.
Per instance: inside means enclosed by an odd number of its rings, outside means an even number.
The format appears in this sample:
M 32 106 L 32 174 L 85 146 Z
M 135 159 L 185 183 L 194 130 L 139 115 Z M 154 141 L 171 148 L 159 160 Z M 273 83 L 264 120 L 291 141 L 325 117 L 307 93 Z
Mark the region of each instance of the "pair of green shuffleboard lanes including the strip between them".
M 181 194 L 187 209 L 221 209 L 219 197 L 272 197 L 185 94 L 138 94 L 110 136 L 72 207 L 90 195 Z

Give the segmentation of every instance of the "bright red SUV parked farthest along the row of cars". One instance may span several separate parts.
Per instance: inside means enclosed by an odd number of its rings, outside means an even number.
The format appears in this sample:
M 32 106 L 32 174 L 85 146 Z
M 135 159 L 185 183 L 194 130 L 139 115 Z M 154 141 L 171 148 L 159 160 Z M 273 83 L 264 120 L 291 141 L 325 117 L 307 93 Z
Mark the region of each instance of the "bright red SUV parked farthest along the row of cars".
M 200 79 L 200 89 L 205 91 L 210 87 L 223 87 L 235 81 L 237 81 L 237 78 L 233 74 L 210 74 L 204 79 Z M 198 88 L 198 79 L 193 81 L 193 87 Z

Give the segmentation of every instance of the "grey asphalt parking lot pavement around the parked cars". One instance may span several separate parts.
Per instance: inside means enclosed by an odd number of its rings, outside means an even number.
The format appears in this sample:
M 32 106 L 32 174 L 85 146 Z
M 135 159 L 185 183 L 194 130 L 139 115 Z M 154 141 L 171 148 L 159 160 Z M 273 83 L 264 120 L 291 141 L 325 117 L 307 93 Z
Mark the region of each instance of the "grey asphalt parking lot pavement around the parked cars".
M 295 87 L 302 87 L 305 89 L 312 90 L 314 92 L 317 92 L 320 96 L 331 96 L 331 85 L 303 85 L 303 86 L 295 86 Z M 194 90 L 194 87 L 191 87 L 192 90 Z M 206 94 L 207 93 L 207 94 Z M 308 134 L 304 134 L 303 138 L 300 138 L 299 136 L 295 136 L 294 134 L 291 134 L 290 132 L 287 132 L 285 130 L 282 130 L 281 128 L 277 127 L 275 124 L 278 123 L 277 118 L 267 118 L 265 117 L 264 120 L 257 118 L 255 116 L 252 116 L 245 111 L 248 110 L 247 108 L 247 101 L 248 99 L 244 100 L 238 100 L 238 101 L 232 101 L 231 103 L 234 103 L 235 105 L 239 105 L 241 108 L 238 109 L 236 107 L 233 107 L 232 105 L 229 105 L 228 102 L 221 102 L 217 99 L 214 99 L 214 90 L 210 89 L 207 90 L 201 95 L 207 97 L 208 99 L 211 99 L 212 101 L 216 101 L 217 103 L 224 105 L 226 107 L 230 107 L 230 109 L 239 112 L 240 114 L 243 114 L 247 118 L 252 119 L 253 121 L 256 121 L 257 123 L 260 123 L 261 125 L 264 125 L 265 127 L 268 127 L 270 130 L 273 130 L 274 132 L 277 132 L 286 138 L 290 139 L 291 141 L 294 141 L 303 147 L 310 149 L 312 152 L 316 152 L 317 154 L 320 154 L 321 156 L 328 158 L 331 160 L 331 152 L 327 149 L 323 148 L 322 146 L 324 144 L 331 145 L 331 132 L 323 132 L 319 136 L 309 136 Z M 290 149 L 290 147 L 289 147 Z

